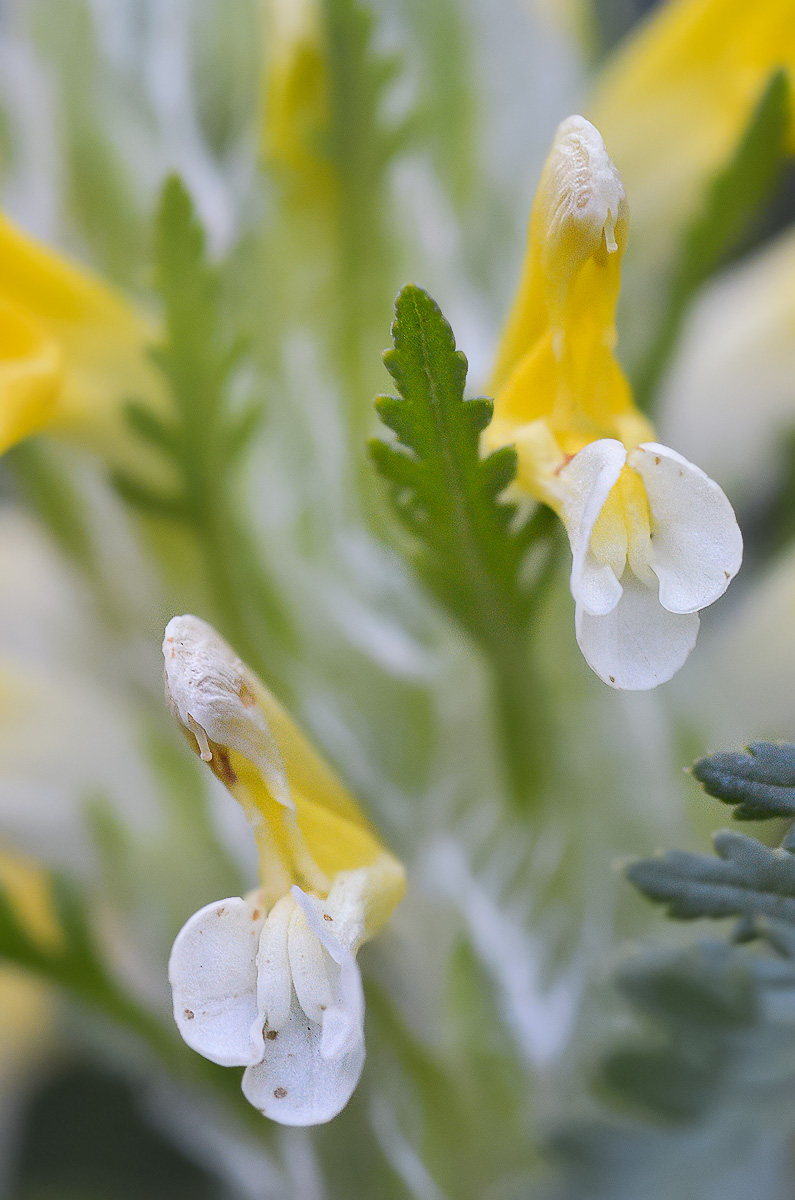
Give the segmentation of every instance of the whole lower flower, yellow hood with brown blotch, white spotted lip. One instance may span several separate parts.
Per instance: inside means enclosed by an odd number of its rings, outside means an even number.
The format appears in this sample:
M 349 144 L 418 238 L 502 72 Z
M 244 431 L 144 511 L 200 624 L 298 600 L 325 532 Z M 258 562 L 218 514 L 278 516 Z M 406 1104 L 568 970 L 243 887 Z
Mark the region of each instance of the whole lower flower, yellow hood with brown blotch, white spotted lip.
M 283 1124 L 345 1106 L 364 1064 L 355 954 L 405 888 L 353 799 L 264 684 L 197 617 L 166 629 L 166 695 L 193 749 L 241 804 L 259 887 L 207 905 L 169 960 L 190 1046 L 245 1066 L 243 1091 Z

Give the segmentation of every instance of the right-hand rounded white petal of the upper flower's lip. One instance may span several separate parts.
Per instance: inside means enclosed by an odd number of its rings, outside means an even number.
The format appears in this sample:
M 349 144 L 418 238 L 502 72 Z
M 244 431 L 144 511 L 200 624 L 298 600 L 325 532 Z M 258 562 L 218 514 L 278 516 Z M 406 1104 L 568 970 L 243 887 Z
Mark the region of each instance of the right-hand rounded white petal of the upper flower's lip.
M 648 497 L 659 602 L 669 612 L 698 612 L 723 595 L 740 570 L 734 510 L 709 475 L 668 446 L 646 442 L 628 461 Z

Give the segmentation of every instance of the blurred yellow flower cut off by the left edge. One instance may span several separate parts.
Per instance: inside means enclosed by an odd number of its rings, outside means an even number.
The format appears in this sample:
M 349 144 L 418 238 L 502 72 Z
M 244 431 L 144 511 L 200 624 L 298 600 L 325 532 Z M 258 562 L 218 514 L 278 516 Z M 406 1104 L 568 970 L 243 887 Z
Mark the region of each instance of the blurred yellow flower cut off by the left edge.
M 0 452 L 48 428 L 122 455 L 127 400 L 160 397 L 147 322 L 0 215 Z

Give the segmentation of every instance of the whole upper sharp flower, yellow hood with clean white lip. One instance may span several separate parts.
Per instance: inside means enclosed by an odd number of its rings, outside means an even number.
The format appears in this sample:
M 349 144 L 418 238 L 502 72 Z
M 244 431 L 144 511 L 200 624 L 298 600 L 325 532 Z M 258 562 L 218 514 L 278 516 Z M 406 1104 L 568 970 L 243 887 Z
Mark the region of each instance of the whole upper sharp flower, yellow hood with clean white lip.
M 628 209 L 598 131 L 558 127 L 492 379 L 492 445 L 514 443 L 518 486 L 572 545 L 580 648 L 615 688 L 653 688 L 695 643 L 698 611 L 740 569 L 721 488 L 653 440 L 614 356 Z

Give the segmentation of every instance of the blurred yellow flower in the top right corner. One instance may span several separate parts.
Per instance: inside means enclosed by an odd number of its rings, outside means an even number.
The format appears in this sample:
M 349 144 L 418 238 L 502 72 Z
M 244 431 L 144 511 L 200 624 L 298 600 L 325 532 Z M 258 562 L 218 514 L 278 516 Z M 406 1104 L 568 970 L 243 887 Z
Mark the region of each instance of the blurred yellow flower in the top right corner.
M 791 0 L 669 0 L 621 46 L 587 112 L 644 232 L 693 214 L 779 67 L 795 79 Z

